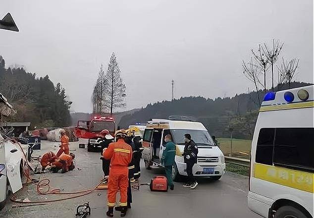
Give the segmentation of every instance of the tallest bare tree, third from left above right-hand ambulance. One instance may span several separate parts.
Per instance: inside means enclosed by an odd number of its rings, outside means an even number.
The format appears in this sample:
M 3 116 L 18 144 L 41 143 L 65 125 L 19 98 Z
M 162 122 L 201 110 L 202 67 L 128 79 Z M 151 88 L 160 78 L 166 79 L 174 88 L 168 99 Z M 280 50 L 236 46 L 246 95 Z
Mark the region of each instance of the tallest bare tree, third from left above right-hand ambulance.
M 271 89 L 274 91 L 274 66 L 276 64 L 276 61 L 278 60 L 278 56 L 280 54 L 280 51 L 283 47 L 283 43 L 281 43 L 279 40 L 275 42 L 275 40 L 272 40 L 272 48 L 268 48 L 266 43 L 264 43 L 264 46 L 262 47 L 265 51 L 265 54 L 267 55 L 268 63 L 271 66 Z

